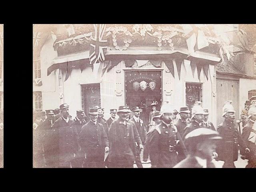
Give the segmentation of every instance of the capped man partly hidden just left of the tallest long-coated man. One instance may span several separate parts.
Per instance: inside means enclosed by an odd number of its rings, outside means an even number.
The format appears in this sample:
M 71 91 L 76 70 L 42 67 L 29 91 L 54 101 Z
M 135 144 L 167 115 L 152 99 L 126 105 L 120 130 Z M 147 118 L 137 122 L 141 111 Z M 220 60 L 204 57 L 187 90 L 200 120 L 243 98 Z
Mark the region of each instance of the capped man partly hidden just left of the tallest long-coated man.
M 53 110 L 45 110 L 47 119 L 42 123 L 42 128 L 44 130 L 44 158 L 46 161 L 46 167 L 51 167 L 52 163 L 52 142 L 55 139 L 55 131 L 53 131 L 52 126 L 54 124 L 54 113 Z

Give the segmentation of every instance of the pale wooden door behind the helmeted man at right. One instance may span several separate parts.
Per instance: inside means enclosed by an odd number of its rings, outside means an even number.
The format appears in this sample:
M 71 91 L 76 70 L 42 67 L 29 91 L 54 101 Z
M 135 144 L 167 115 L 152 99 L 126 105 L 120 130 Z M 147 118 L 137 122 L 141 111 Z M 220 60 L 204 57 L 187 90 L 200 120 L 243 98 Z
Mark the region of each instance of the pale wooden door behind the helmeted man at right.
M 236 118 L 239 119 L 239 86 L 237 80 L 217 79 L 217 126 L 223 122 L 222 108 L 225 101 L 232 100 L 236 110 Z

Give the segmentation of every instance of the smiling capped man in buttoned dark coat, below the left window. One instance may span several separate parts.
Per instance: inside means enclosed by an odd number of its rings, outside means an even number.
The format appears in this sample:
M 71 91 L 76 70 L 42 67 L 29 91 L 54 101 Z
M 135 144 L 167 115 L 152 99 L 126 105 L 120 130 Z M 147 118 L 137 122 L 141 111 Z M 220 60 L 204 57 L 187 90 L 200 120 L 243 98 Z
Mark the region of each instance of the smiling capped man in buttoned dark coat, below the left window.
M 79 144 L 86 156 L 85 168 L 105 168 L 104 156 L 109 151 L 108 136 L 98 119 L 98 110 L 89 109 L 90 121 L 82 126 L 79 134 Z

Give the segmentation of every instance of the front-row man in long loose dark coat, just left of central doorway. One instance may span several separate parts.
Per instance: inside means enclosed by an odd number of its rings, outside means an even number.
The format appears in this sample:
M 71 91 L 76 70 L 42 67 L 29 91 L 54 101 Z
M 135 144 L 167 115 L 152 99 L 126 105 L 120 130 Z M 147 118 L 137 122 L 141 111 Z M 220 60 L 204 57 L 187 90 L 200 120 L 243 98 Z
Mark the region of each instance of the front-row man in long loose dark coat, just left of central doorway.
M 118 119 L 110 125 L 110 151 L 105 161 L 109 168 L 133 168 L 136 146 L 133 125 L 127 122 L 129 112 L 128 106 L 120 106 L 117 111 Z

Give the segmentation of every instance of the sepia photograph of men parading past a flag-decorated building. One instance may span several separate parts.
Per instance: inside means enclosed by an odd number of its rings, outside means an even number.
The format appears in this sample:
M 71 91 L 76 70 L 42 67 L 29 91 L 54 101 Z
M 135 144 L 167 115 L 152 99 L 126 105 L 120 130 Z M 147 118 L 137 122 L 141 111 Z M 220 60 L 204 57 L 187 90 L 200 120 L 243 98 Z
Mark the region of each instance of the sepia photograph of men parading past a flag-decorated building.
M 33 168 L 256 168 L 255 121 L 256 24 L 33 24 Z

